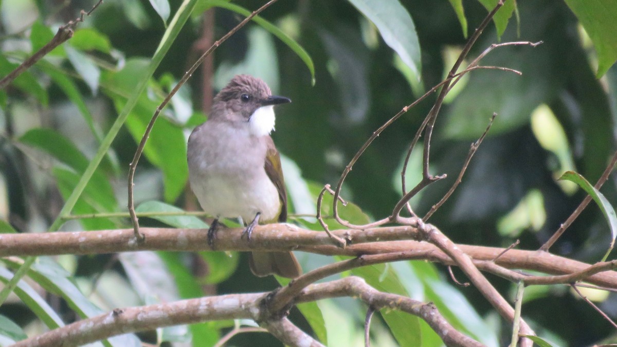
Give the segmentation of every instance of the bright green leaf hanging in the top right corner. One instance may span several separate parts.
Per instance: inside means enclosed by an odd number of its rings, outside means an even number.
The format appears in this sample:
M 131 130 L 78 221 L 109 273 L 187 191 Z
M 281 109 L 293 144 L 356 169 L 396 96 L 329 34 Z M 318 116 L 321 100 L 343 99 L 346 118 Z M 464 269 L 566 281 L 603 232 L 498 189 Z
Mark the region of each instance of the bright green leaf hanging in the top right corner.
M 565 0 L 593 41 L 600 78 L 617 61 L 617 1 Z

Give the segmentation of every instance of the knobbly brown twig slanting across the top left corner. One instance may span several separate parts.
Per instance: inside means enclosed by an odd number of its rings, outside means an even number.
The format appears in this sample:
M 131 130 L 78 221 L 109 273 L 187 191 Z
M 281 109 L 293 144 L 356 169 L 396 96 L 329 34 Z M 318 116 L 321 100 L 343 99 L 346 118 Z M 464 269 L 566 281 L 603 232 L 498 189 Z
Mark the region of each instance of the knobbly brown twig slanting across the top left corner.
M 91 10 L 86 12 L 85 10 L 80 11 L 80 16 L 74 20 L 70 20 L 62 27 L 58 28 L 56 35 L 49 41 L 45 46 L 41 47 L 38 51 L 35 52 L 32 56 L 22 62 L 15 70 L 12 70 L 8 75 L 6 75 L 2 80 L 0 80 L 0 90 L 6 88 L 15 78 L 21 75 L 25 70 L 30 69 L 30 67 L 39 60 L 41 60 L 44 56 L 46 56 L 49 52 L 51 52 L 60 44 L 65 43 L 68 39 L 73 37 L 73 33 L 75 33 L 75 27 L 81 22 L 83 22 L 83 17 L 85 15 L 90 15 L 97 7 L 103 2 L 103 0 L 99 0 L 94 4 Z

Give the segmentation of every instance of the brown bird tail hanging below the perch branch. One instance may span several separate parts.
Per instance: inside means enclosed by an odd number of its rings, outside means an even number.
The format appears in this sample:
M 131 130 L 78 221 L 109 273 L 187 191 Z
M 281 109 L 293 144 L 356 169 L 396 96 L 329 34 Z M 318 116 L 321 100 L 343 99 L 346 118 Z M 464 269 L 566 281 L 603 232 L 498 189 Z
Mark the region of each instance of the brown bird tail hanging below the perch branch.
M 252 252 L 249 259 L 255 276 L 278 275 L 296 278 L 302 275 L 302 267 L 291 252 Z

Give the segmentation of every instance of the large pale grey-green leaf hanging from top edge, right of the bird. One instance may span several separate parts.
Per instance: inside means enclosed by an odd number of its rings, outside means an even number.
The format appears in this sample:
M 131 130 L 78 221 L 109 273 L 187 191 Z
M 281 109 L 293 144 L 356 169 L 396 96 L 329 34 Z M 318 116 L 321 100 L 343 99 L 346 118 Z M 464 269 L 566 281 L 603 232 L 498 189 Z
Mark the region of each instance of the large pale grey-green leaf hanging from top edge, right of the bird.
M 398 0 L 349 0 L 378 28 L 386 44 L 416 76 L 422 69 L 420 43 L 412 16 Z

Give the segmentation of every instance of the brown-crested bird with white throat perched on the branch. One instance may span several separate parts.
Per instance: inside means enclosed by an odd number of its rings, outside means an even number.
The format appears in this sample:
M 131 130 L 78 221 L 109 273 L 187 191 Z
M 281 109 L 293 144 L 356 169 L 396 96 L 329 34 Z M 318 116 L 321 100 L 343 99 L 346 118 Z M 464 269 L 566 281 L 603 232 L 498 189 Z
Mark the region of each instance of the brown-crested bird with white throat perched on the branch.
M 270 133 L 274 106 L 288 102 L 271 95 L 260 78 L 236 75 L 214 97 L 206 122 L 189 136 L 189 182 L 204 212 L 215 217 L 208 230 L 211 245 L 223 217 L 252 220 L 242 233 L 249 241 L 257 224 L 286 222 L 281 157 Z M 259 277 L 302 274 L 291 252 L 253 251 L 249 265 Z

